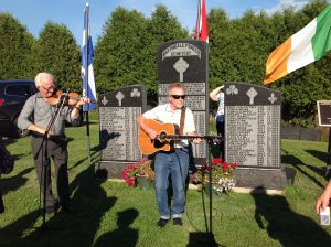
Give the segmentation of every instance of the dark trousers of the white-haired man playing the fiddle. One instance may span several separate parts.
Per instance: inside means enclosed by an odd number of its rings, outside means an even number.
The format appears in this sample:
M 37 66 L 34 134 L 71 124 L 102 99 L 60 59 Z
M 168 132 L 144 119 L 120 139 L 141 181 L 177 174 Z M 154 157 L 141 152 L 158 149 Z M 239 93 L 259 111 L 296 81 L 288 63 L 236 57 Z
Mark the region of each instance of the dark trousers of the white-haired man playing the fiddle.
M 60 204 L 64 205 L 68 203 L 68 175 L 67 175 L 67 141 L 63 139 L 47 139 L 44 141 L 43 147 L 41 144 L 43 138 L 32 137 L 32 154 L 36 169 L 36 175 L 40 184 L 41 192 L 44 191 L 44 181 L 46 181 L 46 206 L 53 206 L 56 202 L 52 192 L 51 181 L 51 158 L 55 167 L 55 180 L 56 190 L 60 200 Z M 47 158 L 45 158 L 45 146 L 47 144 Z M 46 172 L 44 173 L 44 170 Z M 45 180 L 44 180 L 45 174 Z

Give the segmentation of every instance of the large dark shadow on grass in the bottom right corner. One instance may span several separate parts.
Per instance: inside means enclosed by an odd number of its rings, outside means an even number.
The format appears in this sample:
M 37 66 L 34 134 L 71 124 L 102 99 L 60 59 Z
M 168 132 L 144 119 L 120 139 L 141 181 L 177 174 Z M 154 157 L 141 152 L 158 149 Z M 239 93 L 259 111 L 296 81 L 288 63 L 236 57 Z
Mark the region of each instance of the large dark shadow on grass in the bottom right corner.
M 267 195 L 264 187 L 256 187 L 252 196 L 256 223 L 281 246 L 330 246 L 330 235 L 311 218 L 291 211 L 284 196 Z

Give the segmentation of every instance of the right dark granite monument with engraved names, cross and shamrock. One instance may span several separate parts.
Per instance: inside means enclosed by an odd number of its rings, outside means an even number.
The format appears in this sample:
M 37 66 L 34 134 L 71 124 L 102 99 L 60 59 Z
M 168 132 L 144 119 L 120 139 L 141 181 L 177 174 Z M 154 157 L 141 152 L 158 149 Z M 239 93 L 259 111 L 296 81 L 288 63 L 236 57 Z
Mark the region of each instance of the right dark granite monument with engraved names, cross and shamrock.
M 224 93 L 225 160 L 238 164 L 236 186 L 282 190 L 281 93 L 245 83 L 226 83 Z

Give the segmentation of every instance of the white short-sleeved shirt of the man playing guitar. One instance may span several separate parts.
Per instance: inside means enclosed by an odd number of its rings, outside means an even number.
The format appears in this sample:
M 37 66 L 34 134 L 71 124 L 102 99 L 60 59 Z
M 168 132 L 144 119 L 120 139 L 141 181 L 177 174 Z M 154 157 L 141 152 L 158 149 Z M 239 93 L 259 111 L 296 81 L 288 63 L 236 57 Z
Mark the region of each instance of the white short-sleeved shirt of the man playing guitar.
M 158 120 L 162 124 L 174 124 L 180 126 L 181 109 L 172 110 L 170 108 L 170 104 L 164 104 L 146 111 L 143 117 L 147 119 Z M 186 107 L 183 135 L 188 135 L 189 132 L 195 132 L 195 125 L 193 112 Z M 184 146 L 189 144 L 186 140 L 181 142 L 183 142 Z

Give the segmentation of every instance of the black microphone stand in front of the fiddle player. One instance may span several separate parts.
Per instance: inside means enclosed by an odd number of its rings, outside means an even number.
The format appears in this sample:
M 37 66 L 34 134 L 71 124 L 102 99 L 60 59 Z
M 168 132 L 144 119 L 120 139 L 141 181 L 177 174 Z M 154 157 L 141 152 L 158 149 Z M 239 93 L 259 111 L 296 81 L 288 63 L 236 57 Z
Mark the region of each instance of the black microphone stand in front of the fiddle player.
M 50 130 L 54 127 L 54 124 L 56 122 L 61 110 L 63 109 L 64 103 L 66 100 L 67 95 L 64 95 L 64 97 L 60 98 L 60 103 L 57 104 L 56 111 L 53 115 L 52 119 L 49 122 L 49 126 L 45 130 L 45 133 L 43 135 L 43 141 L 34 155 L 34 159 L 39 155 L 40 151 L 42 150 L 42 174 L 41 174 L 41 182 L 43 184 L 43 211 L 42 211 L 42 216 L 43 216 L 43 222 L 42 225 L 39 227 L 39 229 L 45 230 L 49 229 L 49 226 L 46 225 L 46 191 L 47 191 L 47 185 L 46 185 L 46 179 L 47 179 L 47 168 L 51 165 L 50 159 L 49 159 L 49 133 Z M 50 178 L 51 179 L 51 178 Z

